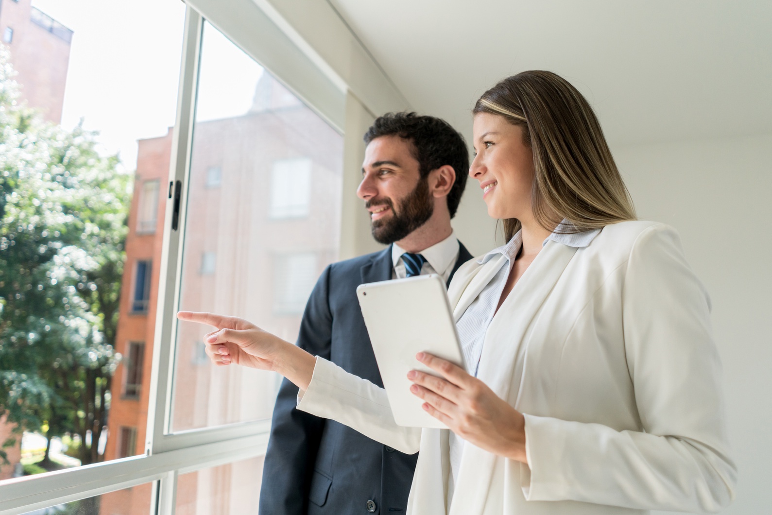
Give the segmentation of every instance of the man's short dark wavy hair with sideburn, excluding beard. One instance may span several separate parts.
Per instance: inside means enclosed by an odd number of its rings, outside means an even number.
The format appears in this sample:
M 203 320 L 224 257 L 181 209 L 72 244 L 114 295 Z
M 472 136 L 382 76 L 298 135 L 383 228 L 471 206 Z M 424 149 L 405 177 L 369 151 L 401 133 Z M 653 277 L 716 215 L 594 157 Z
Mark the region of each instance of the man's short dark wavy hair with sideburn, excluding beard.
M 364 134 L 364 143 L 382 136 L 399 136 L 411 141 L 411 154 L 418 161 L 422 179 L 445 164 L 453 167 L 455 182 L 448 193 L 448 211 L 453 218 L 469 174 L 469 151 L 464 137 L 445 120 L 415 113 L 387 113 L 378 117 Z

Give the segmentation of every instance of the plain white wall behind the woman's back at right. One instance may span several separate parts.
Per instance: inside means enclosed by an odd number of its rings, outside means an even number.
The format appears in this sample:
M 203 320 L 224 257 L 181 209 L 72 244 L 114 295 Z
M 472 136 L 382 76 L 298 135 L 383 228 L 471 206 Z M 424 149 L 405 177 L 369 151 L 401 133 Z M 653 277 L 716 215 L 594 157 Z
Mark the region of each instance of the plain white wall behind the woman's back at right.
M 678 229 L 713 300 L 740 475 L 723 513 L 770 513 L 772 134 L 613 151 L 638 217 Z

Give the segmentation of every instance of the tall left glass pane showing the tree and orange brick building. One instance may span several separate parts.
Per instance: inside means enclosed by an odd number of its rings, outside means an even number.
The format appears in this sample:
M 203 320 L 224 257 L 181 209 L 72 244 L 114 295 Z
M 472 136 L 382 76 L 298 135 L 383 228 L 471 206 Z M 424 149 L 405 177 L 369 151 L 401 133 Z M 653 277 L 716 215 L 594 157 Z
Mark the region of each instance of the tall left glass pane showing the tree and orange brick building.
M 184 25 L 179 0 L 2 2 L 0 480 L 143 452 Z

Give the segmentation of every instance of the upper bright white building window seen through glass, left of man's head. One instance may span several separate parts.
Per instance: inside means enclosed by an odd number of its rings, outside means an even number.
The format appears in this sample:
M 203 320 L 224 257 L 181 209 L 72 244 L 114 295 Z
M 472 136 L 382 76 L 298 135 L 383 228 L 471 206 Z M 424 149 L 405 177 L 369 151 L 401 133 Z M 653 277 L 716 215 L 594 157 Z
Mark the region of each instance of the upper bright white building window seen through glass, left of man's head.
M 311 160 L 309 158 L 281 159 L 273 162 L 271 170 L 272 219 L 308 216 L 311 200 Z

